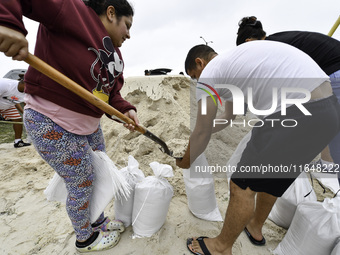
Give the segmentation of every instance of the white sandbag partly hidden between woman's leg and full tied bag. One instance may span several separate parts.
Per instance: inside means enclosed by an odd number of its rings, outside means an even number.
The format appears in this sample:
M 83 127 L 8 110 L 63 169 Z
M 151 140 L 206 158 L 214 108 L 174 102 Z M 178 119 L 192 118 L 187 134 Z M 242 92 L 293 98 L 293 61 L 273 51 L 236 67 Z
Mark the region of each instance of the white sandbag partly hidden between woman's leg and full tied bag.
M 126 181 L 131 187 L 131 193 L 129 197 L 116 199 L 114 202 L 115 219 L 120 220 L 124 223 L 125 227 L 128 227 L 132 223 L 132 210 L 134 201 L 134 191 L 136 183 L 141 182 L 145 176 L 142 170 L 139 169 L 138 161 L 133 157 L 129 156 L 128 166 L 119 170 L 125 177 Z

